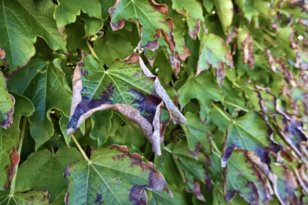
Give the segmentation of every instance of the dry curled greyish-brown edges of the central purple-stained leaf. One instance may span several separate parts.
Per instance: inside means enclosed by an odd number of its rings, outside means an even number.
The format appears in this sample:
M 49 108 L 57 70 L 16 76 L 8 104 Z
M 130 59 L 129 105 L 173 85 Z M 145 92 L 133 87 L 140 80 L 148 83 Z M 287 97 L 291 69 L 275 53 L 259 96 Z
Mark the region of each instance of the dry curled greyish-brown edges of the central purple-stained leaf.
M 115 59 L 119 60 L 119 59 Z M 150 124 L 147 119 L 145 119 L 141 114 L 140 111 L 136 108 L 133 108 L 126 104 L 103 104 L 100 107 L 93 108 L 86 113 L 82 114 L 81 117 L 78 120 L 78 123 L 76 127 L 68 128 L 67 134 L 71 135 L 75 132 L 75 130 L 82 124 L 82 122 L 87 119 L 91 114 L 93 114 L 95 111 L 99 110 L 106 110 L 106 109 L 112 109 L 115 111 L 118 111 L 122 113 L 125 117 L 127 117 L 129 120 L 134 122 L 144 133 L 144 135 L 147 137 L 147 139 L 152 144 L 152 151 L 156 153 L 157 155 L 161 155 L 161 149 L 160 149 L 160 108 L 165 105 L 167 110 L 170 113 L 170 117 L 172 121 L 174 121 L 175 124 L 180 123 L 184 124 L 186 121 L 186 118 L 183 116 L 183 114 L 179 111 L 179 109 L 175 106 L 175 104 L 172 102 L 172 100 L 169 98 L 168 94 L 164 90 L 164 88 L 161 86 L 160 81 L 157 76 L 153 75 L 151 71 L 145 66 L 143 63 L 142 58 L 139 56 L 138 53 L 134 52 L 127 58 L 125 58 L 124 61 L 127 64 L 140 64 L 140 67 L 142 68 L 144 74 L 147 77 L 155 79 L 155 91 L 157 95 L 162 99 L 161 103 L 156 108 L 156 114 L 154 116 L 152 125 Z M 82 100 L 82 96 L 80 94 L 82 90 L 82 81 L 81 81 L 81 73 L 79 66 L 84 65 L 83 58 L 78 63 L 74 70 L 73 74 L 73 96 L 72 96 L 72 104 L 71 104 L 71 110 L 70 110 L 70 119 L 72 115 L 75 112 L 76 107 L 79 105 L 79 103 Z M 154 131 L 153 131 L 154 130 Z

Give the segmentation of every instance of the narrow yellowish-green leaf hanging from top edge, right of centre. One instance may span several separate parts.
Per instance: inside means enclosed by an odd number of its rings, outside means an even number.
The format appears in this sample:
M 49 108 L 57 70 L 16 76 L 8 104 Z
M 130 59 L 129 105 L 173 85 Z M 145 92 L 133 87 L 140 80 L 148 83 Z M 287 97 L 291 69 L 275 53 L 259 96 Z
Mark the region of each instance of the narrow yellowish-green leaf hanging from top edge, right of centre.
M 232 23 L 234 15 L 232 0 L 213 0 L 213 1 L 217 9 L 217 14 L 219 16 L 221 26 L 226 34 L 229 26 Z

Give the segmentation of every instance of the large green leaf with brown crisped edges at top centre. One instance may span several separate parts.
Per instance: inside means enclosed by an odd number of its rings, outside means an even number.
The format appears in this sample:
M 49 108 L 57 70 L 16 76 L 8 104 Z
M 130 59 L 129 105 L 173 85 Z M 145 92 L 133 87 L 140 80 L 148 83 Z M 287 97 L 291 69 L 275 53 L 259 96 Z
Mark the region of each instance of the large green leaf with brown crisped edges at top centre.
M 166 5 L 157 4 L 153 0 L 117 0 L 114 6 L 109 9 L 109 13 L 112 30 L 122 29 L 125 20 L 138 20 L 141 27 L 139 50 L 148 49 L 153 52 L 159 48 L 161 43 L 164 43 L 170 49 L 170 61 L 172 62 L 172 59 L 176 58 L 174 51 L 176 45 L 172 35 L 174 25 L 172 19 L 168 18 L 168 7 Z M 159 42 L 161 34 L 164 36 L 164 40 Z M 146 55 L 152 65 L 156 53 L 146 52 Z

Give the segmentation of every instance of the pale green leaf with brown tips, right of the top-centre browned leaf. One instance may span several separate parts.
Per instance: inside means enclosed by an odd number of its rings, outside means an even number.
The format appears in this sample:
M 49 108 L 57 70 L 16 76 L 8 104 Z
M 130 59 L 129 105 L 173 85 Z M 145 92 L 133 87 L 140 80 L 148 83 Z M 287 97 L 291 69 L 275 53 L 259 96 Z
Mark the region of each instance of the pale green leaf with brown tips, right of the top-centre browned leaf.
M 214 34 L 208 34 L 202 45 L 196 75 L 199 75 L 201 71 L 208 70 L 210 65 L 215 68 L 216 79 L 221 87 L 226 65 L 231 69 L 234 68 L 233 59 L 228 45 L 221 37 Z

